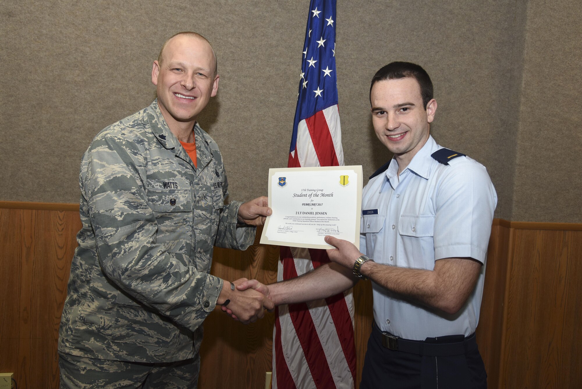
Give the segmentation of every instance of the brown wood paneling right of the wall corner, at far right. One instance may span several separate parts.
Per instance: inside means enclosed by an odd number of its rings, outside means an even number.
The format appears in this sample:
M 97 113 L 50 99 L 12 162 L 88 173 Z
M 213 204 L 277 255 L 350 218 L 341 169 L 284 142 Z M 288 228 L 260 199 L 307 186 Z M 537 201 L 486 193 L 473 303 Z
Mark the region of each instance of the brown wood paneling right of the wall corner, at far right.
M 579 387 L 582 232 L 513 235 L 500 387 Z

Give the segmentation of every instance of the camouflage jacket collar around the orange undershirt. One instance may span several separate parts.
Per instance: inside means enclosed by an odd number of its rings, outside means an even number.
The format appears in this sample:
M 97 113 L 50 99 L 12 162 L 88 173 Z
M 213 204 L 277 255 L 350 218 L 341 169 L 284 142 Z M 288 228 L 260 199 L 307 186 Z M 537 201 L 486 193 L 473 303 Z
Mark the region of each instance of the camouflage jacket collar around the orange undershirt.
M 186 150 L 180 144 L 178 138 L 170 131 L 168 123 L 164 119 L 164 115 L 159 110 L 158 99 L 155 99 L 150 106 L 147 108 L 147 117 L 150 122 L 150 128 L 154 136 L 158 139 L 158 142 L 164 146 L 167 150 L 173 150 L 174 153 L 182 158 L 184 161 L 190 163 L 190 157 Z M 208 162 L 212 159 L 212 151 L 208 146 L 206 137 L 204 136 L 204 130 L 200 128 L 198 122 L 194 123 L 194 139 L 196 140 L 196 159 L 197 168 L 196 173 L 200 172 Z M 192 165 L 194 168 L 194 165 Z

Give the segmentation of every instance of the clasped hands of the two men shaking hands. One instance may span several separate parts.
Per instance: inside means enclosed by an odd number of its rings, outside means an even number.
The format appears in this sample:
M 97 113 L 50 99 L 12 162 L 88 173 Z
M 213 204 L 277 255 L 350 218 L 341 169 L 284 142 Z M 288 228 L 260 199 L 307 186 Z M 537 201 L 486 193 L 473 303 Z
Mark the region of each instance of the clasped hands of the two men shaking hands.
M 224 281 L 217 305 L 223 312 L 243 324 L 254 323 L 265 316 L 265 309 L 272 312 L 275 304 L 269 299 L 269 288 L 257 280 L 240 278 L 234 282 Z

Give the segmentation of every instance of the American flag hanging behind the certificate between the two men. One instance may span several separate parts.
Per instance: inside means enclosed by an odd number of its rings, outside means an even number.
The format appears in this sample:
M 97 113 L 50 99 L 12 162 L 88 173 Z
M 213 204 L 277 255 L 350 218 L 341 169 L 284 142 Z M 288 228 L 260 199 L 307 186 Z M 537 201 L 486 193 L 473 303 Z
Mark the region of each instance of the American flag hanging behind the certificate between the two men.
M 335 69 L 335 0 L 311 0 L 288 167 L 343 165 Z M 278 281 L 329 262 L 325 250 L 281 247 Z M 352 292 L 276 309 L 272 386 L 353 388 Z

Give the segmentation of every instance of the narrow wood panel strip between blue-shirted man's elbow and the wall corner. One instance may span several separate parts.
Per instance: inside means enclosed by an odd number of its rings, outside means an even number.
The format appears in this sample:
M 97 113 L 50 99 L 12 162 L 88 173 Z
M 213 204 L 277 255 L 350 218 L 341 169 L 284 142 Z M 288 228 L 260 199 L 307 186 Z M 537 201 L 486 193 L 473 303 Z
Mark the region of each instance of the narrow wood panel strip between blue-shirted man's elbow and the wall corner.
M 509 231 L 509 225 L 497 224 L 491 229 L 481 312 L 475 334 L 479 351 L 485 363 L 485 370 L 487 370 L 489 389 L 496 389 L 499 381 L 499 354 L 502 340 Z

